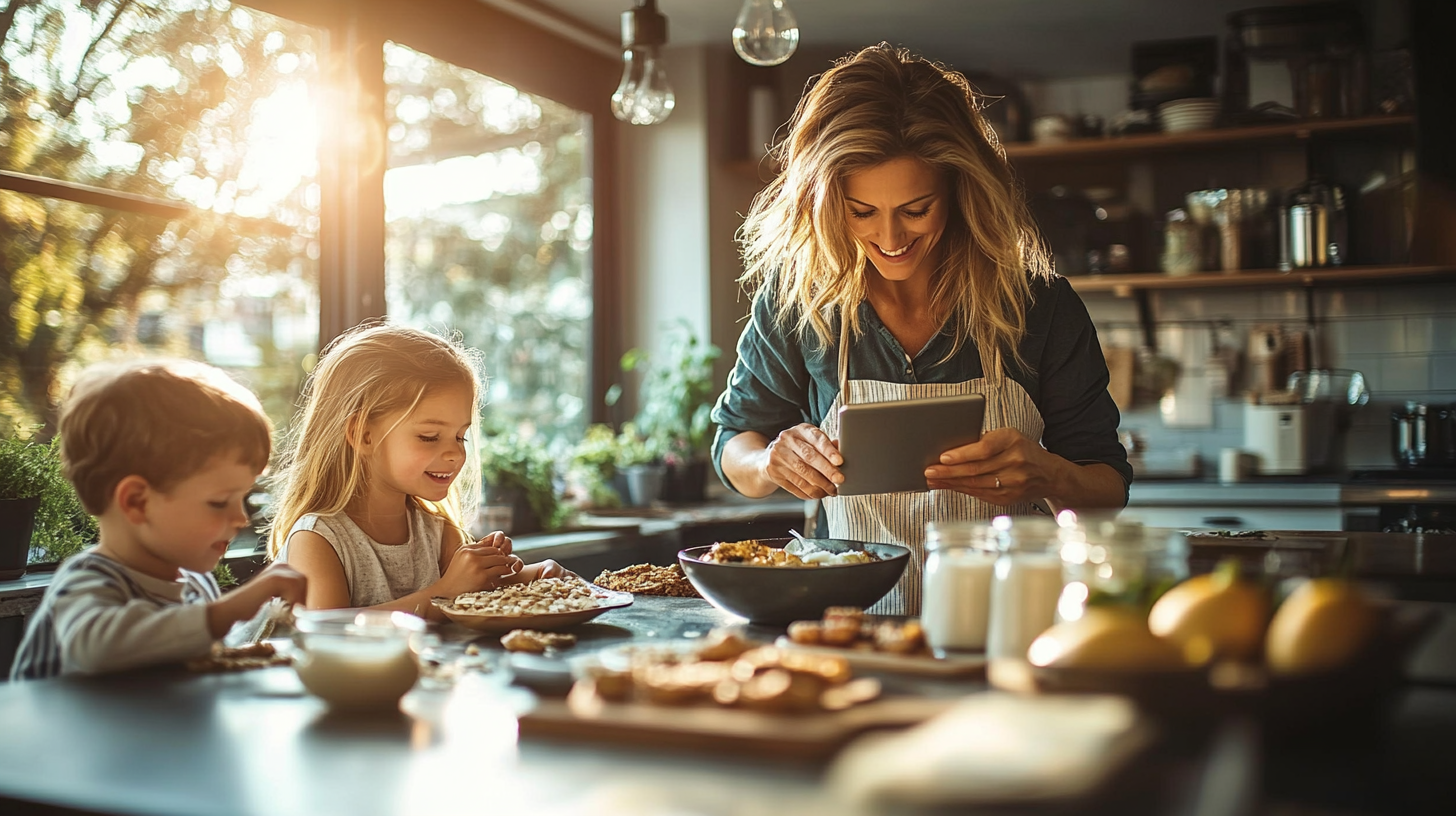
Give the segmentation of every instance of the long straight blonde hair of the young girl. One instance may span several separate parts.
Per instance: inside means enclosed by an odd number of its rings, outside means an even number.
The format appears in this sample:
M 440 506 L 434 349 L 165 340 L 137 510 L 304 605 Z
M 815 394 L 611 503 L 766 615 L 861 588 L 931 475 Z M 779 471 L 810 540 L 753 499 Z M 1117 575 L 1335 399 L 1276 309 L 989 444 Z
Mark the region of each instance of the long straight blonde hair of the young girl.
M 339 335 L 303 386 L 301 405 L 284 442 L 272 493 L 280 497 L 268 535 L 268 555 L 277 558 L 293 525 L 309 513 L 342 513 L 363 495 L 370 474 L 348 442 L 349 424 L 399 414 L 389 436 L 435 389 L 470 389 L 473 420 L 479 420 L 480 370 L 478 353 L 456 337 L 389 323 L 364 325 Z M 479 421 L 475 421 L 479 433 Z M 440 516 L 467 539 L 466 520 L 480 501 L 479 452 L 466 444 L 466 462 L 443 501 L 415 503 Z

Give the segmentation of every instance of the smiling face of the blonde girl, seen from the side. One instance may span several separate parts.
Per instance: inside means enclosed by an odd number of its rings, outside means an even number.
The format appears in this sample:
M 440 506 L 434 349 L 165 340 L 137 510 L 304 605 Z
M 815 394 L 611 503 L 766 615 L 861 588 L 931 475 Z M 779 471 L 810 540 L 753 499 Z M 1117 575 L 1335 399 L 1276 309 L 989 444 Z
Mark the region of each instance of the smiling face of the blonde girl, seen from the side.
M 370 423 L 364 444 L 376 488 L 443 500 L 464 468 L 472 408 L 469 388 L 441 388 L 427 392 L 403 418 L 390 414 Z

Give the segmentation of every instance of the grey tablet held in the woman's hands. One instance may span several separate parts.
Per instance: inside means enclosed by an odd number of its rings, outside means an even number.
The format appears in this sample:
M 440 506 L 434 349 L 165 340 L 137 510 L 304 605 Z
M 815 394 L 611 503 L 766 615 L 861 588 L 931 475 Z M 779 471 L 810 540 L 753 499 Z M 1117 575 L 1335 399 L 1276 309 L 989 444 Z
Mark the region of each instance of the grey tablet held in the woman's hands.
M 925 469 L 981 439 L 980 393 L 863 402 L 839 409 L 839 495 L 925 493 Z

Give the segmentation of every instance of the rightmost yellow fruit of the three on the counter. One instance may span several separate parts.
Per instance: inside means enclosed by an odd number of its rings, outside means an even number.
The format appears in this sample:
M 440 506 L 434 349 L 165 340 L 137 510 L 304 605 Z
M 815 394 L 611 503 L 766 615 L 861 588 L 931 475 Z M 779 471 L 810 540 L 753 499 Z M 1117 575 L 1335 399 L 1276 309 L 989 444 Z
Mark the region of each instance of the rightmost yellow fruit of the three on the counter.
M 1265 660 L 1281 675 L 1337 669 L 1360 654 L 1374 635 L 1376 622 L 1374 606 L 1350 581 L 1305 581 L 1274 612 Z

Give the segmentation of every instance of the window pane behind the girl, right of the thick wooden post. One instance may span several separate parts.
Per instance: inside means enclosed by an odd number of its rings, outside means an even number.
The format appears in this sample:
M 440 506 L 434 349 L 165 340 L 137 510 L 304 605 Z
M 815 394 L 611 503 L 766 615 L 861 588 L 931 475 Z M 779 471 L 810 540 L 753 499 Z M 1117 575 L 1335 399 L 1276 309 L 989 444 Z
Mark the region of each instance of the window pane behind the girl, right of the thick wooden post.
M 485 354 L 486 424 L 577 440 L 590 420 L 590 117 L 384 45 L 386 303 Z

